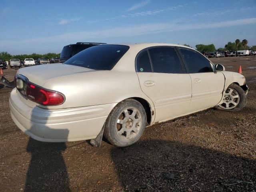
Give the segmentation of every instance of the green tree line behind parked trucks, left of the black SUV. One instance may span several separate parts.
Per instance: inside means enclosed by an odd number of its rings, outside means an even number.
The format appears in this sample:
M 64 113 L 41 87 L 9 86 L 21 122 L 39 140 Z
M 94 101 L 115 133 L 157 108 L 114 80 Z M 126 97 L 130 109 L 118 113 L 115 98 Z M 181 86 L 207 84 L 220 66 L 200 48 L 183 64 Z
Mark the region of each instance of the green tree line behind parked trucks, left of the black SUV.
M 46 54 L 37 54 L 37 53 L 32 53 L 32 54 L 23 54 L 23 55 L 11 55 L 8 52 L 0 52 L 0 58 L 2 60 L 10 61 L 10 59 L 19 59 L 23 61 L 26 58 L 33 58 L 34 60 L 37 60 L 40 57 L 44 58 L 52 58 L 52 57 L 60 57 L 60 53 L 46 53 Z

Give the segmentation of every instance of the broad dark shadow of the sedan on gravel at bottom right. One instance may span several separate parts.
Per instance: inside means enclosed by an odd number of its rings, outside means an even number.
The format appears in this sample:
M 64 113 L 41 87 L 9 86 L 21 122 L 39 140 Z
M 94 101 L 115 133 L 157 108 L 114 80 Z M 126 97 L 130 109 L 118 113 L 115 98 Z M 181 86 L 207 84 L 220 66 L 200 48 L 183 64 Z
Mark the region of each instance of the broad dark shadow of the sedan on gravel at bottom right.
M 256 160 L 163 140 L 114 147 L 111 153 L 126 191 L 256 190 Z

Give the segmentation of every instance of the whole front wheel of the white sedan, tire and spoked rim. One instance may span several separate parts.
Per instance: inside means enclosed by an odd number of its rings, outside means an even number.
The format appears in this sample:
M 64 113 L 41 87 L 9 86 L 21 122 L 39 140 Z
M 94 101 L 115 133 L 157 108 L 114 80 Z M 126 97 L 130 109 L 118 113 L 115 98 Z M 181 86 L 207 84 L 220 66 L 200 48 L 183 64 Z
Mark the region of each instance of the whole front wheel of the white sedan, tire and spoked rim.
M 238 112 L 244 108 L 247 98 L 244 90 L 237 84 L 228 86 L 222 104 L 216 106 L 219 110 Z

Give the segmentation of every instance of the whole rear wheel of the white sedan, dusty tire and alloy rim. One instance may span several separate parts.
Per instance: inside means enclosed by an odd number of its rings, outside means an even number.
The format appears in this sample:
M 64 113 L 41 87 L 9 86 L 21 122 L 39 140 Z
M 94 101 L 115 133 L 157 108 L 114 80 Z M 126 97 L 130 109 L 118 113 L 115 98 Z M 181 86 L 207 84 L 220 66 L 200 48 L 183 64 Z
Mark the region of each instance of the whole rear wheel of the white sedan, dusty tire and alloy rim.
M 137 100 L 126 99 L 110 112 L 104 129 L 105 138 L 118 147 L 137 142 L 146 126 L 146 112 Z

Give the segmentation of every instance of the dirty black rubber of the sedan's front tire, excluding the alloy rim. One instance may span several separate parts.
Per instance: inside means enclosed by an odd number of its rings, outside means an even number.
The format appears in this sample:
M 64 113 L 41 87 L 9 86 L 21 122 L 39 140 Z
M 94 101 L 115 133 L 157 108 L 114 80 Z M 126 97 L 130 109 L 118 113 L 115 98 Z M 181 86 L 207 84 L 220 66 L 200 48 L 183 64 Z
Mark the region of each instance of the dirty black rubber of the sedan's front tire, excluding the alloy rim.
M 238 112 L 238 111 L 242 110 L 244 108 L 244 106 L 246 106 L 246 104 L 247 104 L 247 98 L 246 98 L 246 94 L 245 94 L 244 90 L 239 85 L 234 84 L 234 83 L 230 84 L 230 86 L 228 86 L 228 88 L 232 88 L 237 91 L 237 93 L 240 97 L 238 105 L 233 109 L 224 109 L 224 108 L 221 108 L 220 106 L 216 106 L 216 108 L 219 110 L 231 111 L 231 112 Z

